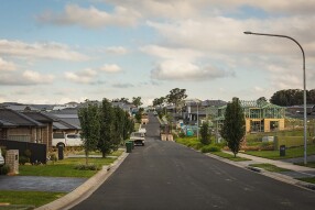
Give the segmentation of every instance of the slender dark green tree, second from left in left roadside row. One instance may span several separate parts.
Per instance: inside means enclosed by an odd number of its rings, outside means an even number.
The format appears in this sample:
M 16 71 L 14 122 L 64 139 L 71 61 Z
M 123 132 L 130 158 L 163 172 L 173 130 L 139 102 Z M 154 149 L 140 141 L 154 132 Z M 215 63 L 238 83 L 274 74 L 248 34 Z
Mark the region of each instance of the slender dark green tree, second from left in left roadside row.
M 115 139 L 115 112 L 108 99 L 102 99 L 100 108 L 100 140 L 97 147 L 101 151 L 102 157 L 109 154 Z

